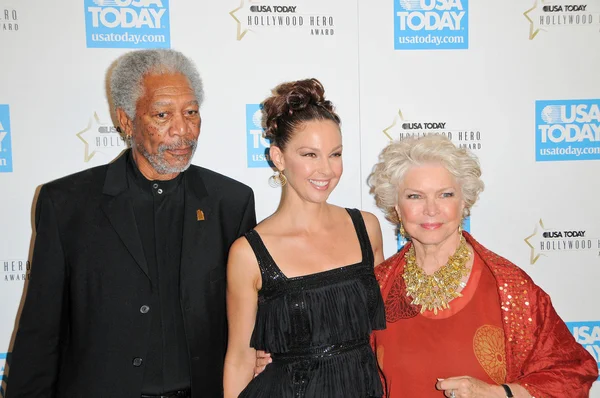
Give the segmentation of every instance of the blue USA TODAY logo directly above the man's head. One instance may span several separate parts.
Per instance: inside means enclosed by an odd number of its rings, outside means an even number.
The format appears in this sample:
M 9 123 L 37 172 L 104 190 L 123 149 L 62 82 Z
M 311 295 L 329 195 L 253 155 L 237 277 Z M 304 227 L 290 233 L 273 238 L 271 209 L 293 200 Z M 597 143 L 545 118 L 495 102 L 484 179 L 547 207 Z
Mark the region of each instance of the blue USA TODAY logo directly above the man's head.
M 88 48 L 169 48 L 169 0 L 84 0 Z

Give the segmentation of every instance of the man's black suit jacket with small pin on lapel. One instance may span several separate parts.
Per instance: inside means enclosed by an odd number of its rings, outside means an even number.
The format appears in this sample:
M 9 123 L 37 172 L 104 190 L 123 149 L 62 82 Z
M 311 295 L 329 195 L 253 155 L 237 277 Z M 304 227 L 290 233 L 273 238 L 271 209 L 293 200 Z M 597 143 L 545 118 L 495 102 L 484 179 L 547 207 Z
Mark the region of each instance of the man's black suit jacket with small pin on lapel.
M 121 156 L 42 187 L 7 398 L 139 398 L 158 302 L 127 198 L 126 166 Z M 192 396 L 221 397 L 227 254 L 256 224 L 254 195 L 196 166 L 184 183 L 180 302 Z

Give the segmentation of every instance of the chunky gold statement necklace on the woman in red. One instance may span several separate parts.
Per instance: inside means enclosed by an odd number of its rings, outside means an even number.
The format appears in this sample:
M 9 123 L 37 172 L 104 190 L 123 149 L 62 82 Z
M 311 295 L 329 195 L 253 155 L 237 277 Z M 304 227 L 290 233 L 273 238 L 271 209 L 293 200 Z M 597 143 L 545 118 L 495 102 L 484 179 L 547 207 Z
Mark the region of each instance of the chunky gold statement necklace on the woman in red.
M 452 299 L 462 297 L 457 290 L 459 286 L 464 285 L 461 282 L 462 278 L 469 274 L 467 262 L 470 257 L 467 242 L 461 236 L 458 249 L 448 258 L 448 263 L 433 275 L 427 275 L 417 265 L 415 245 L 412 245 L 404 255 L 406 266 L 402 275 L 406 283 L 406 295 L 413 298 L 412 304 L 420 305 L 421 313 L 429 310 L 435 315 L 438 310 L 450 308 L 448 303 Z

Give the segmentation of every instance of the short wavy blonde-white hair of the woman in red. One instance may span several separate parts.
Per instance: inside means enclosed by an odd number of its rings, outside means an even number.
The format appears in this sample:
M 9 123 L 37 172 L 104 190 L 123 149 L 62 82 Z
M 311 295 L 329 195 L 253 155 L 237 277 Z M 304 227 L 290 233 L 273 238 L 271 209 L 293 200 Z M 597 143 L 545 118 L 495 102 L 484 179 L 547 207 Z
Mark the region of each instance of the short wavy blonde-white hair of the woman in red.
M 466 149 L 457 148 L 446 136 L 429 134 L 392 141 L 381 151 L 379 163 L 369 175 L 367 183 L 377 207 L 392 223 L 400 221 L 395 206 L 404 176 L 411 167 L 428 163 L 440 163 L 456 178 L 465 202 L 463 217 L 469 216 L 484 187 L 479 161 Z

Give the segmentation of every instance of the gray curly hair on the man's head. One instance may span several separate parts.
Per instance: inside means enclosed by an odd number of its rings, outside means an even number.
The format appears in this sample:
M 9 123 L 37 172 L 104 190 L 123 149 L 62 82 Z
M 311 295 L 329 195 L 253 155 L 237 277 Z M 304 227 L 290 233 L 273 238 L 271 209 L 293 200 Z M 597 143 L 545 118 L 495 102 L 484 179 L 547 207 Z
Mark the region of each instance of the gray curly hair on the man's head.
M 167 73 L 181 73 L 187 77 L 198 104 L 202 104 L 202 79 L 189 58 L 179 51 L 169 49 L 137 50 L 121 56 L 111 73 L 110 92 L 115 110 L 123 109 L 134 120 L 137 101 L 144 93 L 144 76 Z

